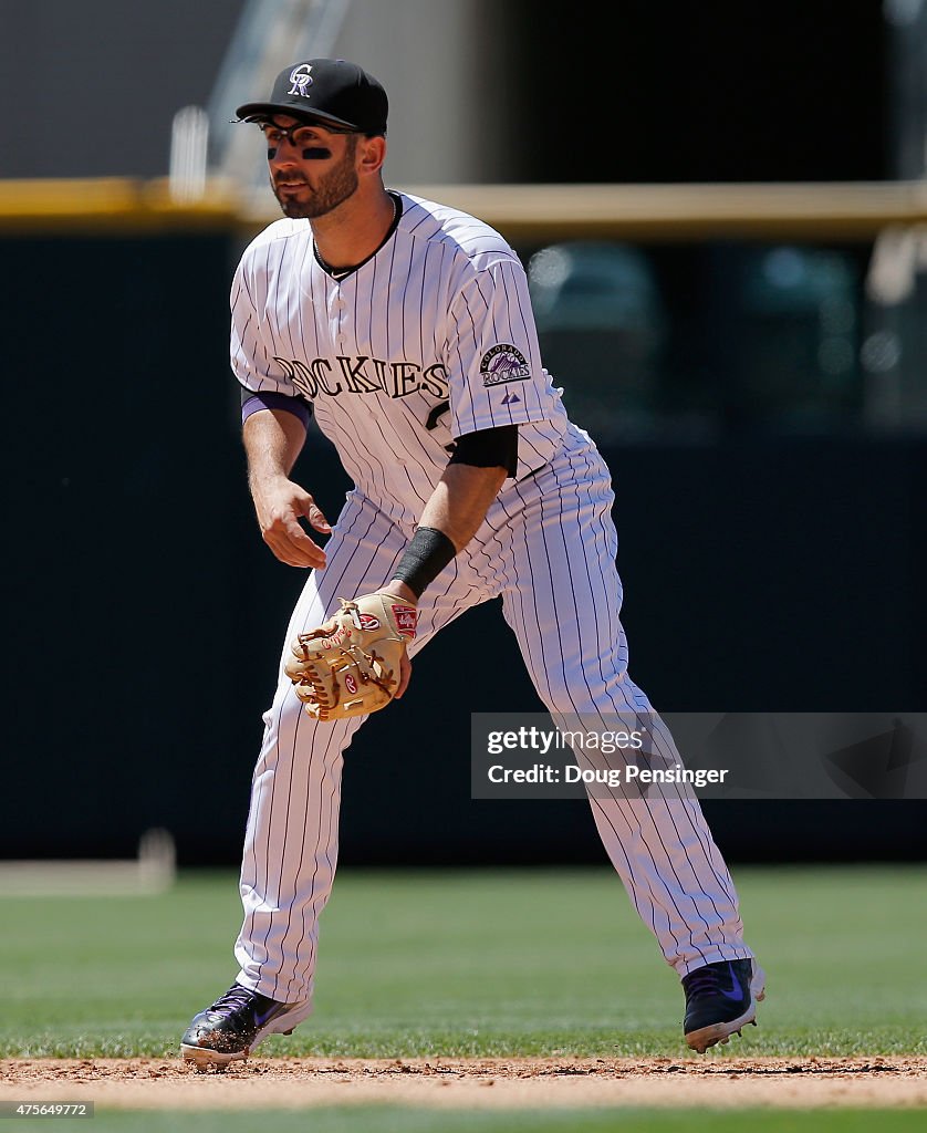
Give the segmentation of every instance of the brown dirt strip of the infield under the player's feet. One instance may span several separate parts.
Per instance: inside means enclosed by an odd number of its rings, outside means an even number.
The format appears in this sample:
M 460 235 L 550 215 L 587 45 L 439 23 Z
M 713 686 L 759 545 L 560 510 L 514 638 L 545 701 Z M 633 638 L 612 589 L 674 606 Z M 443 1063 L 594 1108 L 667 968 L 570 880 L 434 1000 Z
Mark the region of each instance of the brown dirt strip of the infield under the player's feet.
M 0 1062 L 0 1100 L 65 1099 L 133 1109 L 922 1107 L 927 1058 L 254 1058 L 223 1074 L 168 1058 Z

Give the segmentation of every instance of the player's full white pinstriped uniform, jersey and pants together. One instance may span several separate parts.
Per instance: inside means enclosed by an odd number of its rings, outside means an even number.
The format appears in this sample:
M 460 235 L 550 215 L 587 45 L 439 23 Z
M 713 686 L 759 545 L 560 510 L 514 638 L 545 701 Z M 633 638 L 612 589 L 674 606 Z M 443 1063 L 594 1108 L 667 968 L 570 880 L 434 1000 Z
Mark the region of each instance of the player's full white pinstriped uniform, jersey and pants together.
M 559 726 L 643 713 L 658 750 L 678 760 L 627 670 L 611 477 L 542 368 L 521 264 L 473 216 L 401 199 L 396 231 L 340 282 L 316 262 L 306 220 L 272 224 L 236 274 L 236 375 L 256 393 L 312 401 L 359 489 L 348 493 L 325 569 L 308 573 L 286 640 L 322 624 L 339 596 L 393 577 L 453 437 L 514 421 L 519 480 L 505 482 L 486 522 L 423 594 L 409 656 L 465 610 L 499 597 Z M 244 987 L 300 1004 L 288 1021 L 312 1007 L 342 753 L 362 723 L 313 721 L 280 667 L 253 782 L 236 956 Z M 618 787 L 590 803 L 612 864 L 680 976 L 750 956 L 733 884 L 695 800 L 645 801 Z

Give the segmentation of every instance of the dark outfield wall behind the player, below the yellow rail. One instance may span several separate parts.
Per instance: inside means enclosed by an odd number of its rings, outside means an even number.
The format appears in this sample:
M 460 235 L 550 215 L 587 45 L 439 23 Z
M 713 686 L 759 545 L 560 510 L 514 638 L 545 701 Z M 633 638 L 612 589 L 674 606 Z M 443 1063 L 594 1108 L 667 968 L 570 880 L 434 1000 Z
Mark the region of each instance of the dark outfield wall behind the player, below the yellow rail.
M 3 225 L 7 858 L 130 855 L 162 826 L 181 864 L 233 862 L 299 586 L 245 487 L 227 293 L 247 233 L 153 207 Z M 925 707 L 927 438 L 728 429 L 606 457 L 658 707 Z M 299 475 L 337 512 L 323 441 Z M 538 707 L 496 608 L 445 631 L 347 756 L 342 861 L 601 861 L 584 803 L 469 799 L 469 710 Z M 927 852 L 924 803 L 708 809 L 734 859 Z

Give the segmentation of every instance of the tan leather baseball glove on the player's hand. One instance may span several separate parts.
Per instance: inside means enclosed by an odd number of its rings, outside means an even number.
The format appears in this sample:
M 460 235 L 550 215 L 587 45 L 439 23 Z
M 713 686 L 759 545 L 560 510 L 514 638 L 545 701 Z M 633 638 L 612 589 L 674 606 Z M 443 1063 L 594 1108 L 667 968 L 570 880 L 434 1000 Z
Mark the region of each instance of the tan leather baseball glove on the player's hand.
M 386 594 L 354 602 L 324 625 L 290 642 L 283 671 L 316 719 L 363 716 L 385 708 L 399 688 L 399 665 L 415 637 L 416 608 Z

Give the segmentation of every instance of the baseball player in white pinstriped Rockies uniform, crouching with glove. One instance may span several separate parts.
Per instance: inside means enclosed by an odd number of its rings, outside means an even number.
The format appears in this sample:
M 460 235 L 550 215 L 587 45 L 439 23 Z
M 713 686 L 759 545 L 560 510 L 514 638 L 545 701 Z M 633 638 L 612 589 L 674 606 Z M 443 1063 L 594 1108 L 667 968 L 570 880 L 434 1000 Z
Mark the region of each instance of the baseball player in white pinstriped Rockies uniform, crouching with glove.
M 231 290 L 249 487 L 273 554 L 309 573 L 264 715 L 239 971 L 181 1041 L 198 1067 L 309 1015 L 345 749 L 469 607 L 502 598 L 555 722 L 649 716 L 678 759 L 628 675 L 610 474 L 542 365 L 521 263 L 479 220 L 384 187 L 386 110 L 359 67 L 309 59 L 237 111 L 264 135 L 286 218 L 246 249 Z M 313 414 L 355 485 L 333 526 L 290 479 Z M 755 1021 L 764 977 L 697 800 L 589 801 L 682 980 L 686 1040 L 726 1042 Z

